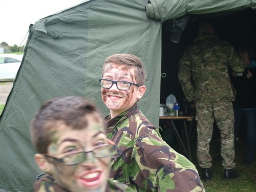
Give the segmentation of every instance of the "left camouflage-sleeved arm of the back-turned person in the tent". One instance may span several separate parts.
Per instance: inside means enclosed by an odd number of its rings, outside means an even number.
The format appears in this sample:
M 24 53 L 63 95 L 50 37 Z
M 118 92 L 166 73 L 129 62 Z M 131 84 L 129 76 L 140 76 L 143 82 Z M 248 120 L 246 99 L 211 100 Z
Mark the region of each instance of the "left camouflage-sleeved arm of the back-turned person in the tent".
M 183 93 L 188 101 L 194 100 L 194 86 L 191 82 L 191 65 L 189 62 L 189 57 L 187 52 L 183 54 L 183 57 L 180 60 L 179 71 L 178 71 L 178 78 L 181 84 L 181 88 Z

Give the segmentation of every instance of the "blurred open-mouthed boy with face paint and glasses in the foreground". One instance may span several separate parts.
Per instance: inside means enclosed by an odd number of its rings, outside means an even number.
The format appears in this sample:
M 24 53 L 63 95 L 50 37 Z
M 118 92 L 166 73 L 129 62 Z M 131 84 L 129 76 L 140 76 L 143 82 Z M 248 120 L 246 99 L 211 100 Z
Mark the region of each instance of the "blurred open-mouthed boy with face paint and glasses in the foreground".
M 96 106 L 82 97 L 59 97 L 41 106 L 30 126 L 46 172 L 33 186 L 40 192 L 135 191 L 109 179 L 114 143 L 106 138 Z

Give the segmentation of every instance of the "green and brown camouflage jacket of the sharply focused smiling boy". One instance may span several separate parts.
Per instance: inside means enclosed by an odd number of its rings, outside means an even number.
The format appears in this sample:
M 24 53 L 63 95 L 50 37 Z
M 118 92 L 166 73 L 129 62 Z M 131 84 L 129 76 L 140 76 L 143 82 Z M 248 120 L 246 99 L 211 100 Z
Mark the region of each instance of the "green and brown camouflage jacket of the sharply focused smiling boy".
M 108 138 L 117 145 L 112 179 L 137 191 L 205 191 L 195 165 L 163 141 L 137 106 L 105 119 Z

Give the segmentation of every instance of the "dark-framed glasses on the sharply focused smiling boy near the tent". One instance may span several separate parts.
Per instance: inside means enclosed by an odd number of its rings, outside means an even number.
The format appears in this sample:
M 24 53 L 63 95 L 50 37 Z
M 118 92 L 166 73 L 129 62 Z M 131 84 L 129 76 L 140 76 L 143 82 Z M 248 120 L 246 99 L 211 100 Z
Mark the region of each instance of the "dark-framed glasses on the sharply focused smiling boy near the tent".
M 99 85 L 102 88 L 110 89 L 110 88 L 112 88 L 113 84 L 116 84 L 117 89 L 122 90 L 122 91 L 130 90 L 132 85 L 140 87 L 139 84 L 136 84 L 136 83 L 133 83 L 133 82 L 112 81 L 110 79 L 99 79 Z

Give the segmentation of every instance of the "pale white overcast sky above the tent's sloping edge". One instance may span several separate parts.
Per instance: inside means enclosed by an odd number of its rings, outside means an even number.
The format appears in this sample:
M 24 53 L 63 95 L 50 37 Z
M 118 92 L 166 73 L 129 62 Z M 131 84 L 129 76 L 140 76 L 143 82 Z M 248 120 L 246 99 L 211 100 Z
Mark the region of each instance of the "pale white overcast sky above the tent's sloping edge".
M 82 0 L 0 0 L 0 44 L 24 45 L 30 24 Z M 23 43 L 22 43 L 23 42 Z

